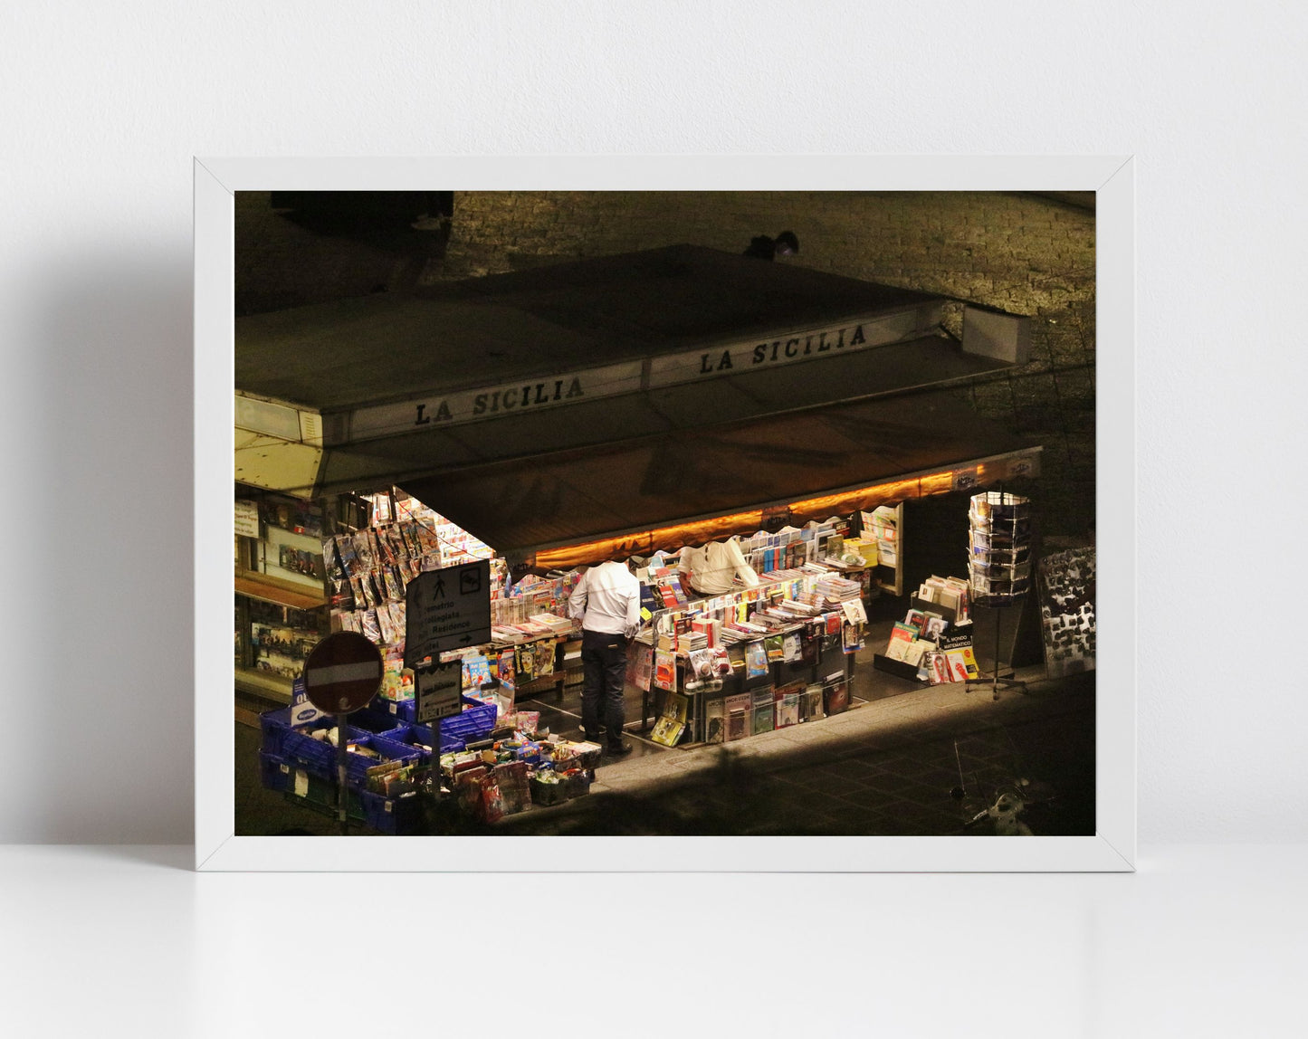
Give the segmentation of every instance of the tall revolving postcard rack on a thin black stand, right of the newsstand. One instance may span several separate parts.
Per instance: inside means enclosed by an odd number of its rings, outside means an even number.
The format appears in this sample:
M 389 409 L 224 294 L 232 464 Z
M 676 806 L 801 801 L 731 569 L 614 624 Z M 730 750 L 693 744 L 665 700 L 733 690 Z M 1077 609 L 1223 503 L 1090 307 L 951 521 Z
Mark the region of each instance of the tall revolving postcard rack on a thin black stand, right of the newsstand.
M 999 610 L 1020 603 L 1031 591 L 1031 500 L 1019 495 L 985 491 L 972 497 L 968 509 L 968 580 L 972 601 L 989 606 L 994 616 L 994 673 L 968 679 L 968 686 L 989 684 L 993 699 L 1001 688 L 1027 691 L 1027 683 L 1001 678 Z

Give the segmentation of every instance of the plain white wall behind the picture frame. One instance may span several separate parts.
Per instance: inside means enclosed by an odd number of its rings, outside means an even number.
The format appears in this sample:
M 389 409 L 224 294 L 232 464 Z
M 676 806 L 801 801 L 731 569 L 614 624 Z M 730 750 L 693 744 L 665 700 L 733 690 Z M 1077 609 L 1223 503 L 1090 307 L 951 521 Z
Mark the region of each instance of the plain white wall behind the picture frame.
M 191 836 L 191 156 L 438 152 L 1134 153 L 1141 837 L 1308 837 L 1304 16 L 1069 7 L 7 5 L 0 840 Z

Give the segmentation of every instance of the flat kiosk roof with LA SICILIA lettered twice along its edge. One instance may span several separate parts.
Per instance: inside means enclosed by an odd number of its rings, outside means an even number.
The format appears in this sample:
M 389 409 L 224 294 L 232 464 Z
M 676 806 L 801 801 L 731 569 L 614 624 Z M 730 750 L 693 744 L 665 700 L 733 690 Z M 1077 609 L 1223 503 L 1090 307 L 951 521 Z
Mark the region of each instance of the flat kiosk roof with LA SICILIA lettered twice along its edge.
M 696 246 L 241 318 L 235 479 L 373 491 L 1020 364 L 1027 319 Z M 530 463 L 528 463 L 530 465 Z

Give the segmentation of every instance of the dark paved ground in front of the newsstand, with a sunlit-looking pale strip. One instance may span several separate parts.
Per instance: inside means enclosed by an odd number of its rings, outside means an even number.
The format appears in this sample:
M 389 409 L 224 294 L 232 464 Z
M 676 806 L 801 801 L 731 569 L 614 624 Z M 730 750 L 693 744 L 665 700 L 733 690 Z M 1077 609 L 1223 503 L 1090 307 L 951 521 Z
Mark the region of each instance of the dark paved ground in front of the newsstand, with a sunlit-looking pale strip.
M 995 788 L 1029 780 L 1024 789 L 1052 793 L 1024 813 L 1035 832 L 1093 834 L 1093 701 L 1091 677 L 998 703 L 988 688 L 916 690 L 736 745 L 602 764 L 590 797 L 498 828 L 946 835 L 965 832 Z

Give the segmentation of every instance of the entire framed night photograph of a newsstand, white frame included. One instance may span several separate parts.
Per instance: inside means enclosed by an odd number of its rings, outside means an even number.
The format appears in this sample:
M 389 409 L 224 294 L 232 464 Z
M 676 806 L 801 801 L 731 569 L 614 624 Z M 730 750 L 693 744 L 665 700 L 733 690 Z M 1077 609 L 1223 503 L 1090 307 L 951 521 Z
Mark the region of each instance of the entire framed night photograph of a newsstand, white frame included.
M 196 868 L 1134 869 L 1133 234 L 1125 156 L 198 158 Z M 607 563 L 676 739 L 585 730 Z M 950 577 L 980 677 L 883 669 Z

